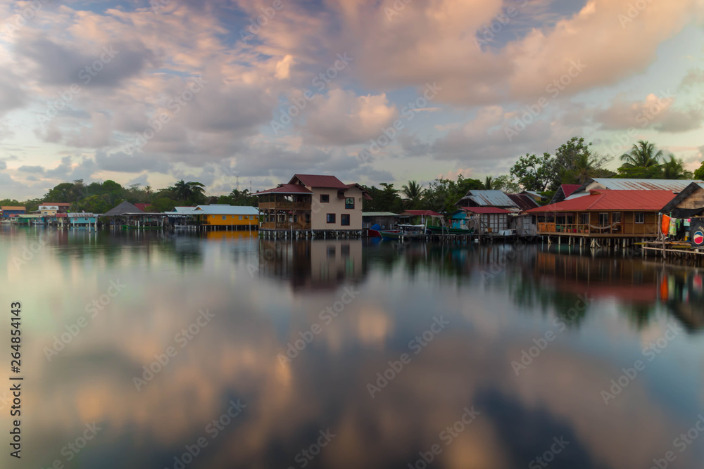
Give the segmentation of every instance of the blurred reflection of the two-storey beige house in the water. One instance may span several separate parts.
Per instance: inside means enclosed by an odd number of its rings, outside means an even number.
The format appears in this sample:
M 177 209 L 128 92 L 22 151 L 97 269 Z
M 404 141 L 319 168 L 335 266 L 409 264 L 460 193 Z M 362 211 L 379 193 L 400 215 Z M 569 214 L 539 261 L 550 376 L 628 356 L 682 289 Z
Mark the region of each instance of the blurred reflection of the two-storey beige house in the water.
M 334 289 L 365 277 L 362 240 L 259 241 L 259 271 L 294 290 Z

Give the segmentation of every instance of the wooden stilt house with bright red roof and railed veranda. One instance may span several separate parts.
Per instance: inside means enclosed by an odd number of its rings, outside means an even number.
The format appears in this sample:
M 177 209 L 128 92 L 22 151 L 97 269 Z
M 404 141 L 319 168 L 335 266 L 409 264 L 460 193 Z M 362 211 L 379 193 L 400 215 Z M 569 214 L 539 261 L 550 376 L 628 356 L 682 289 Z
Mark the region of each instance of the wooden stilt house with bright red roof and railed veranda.
M 589 195 L 529 210 L 539 235 L 587 238 L 656 237 L 658 212 L 674 198 L 672 191 L 592 190 Z

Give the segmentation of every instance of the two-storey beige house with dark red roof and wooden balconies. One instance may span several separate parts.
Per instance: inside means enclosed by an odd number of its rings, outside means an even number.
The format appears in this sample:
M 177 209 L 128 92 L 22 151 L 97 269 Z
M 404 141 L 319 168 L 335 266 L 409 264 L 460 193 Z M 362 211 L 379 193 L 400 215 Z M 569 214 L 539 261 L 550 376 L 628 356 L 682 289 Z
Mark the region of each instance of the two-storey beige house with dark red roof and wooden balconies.
M 360 231 L 362 202 L 370 199 L 359 184 L 315 174 L 295 174 L 287 184 L 254 195 L 263 230 Z

